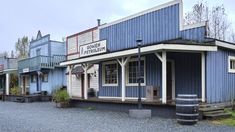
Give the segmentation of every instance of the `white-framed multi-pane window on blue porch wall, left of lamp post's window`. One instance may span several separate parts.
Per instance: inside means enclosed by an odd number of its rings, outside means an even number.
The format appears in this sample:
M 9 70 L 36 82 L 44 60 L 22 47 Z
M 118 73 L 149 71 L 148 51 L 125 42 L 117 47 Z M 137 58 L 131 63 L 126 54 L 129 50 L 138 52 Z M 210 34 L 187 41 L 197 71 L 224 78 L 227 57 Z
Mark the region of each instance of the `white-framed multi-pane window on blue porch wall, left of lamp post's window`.
M 103 67 L 103 85 L 118 85 L 118 65 L 116 62 L 104 63 Z

